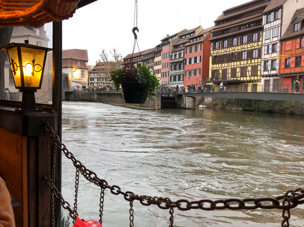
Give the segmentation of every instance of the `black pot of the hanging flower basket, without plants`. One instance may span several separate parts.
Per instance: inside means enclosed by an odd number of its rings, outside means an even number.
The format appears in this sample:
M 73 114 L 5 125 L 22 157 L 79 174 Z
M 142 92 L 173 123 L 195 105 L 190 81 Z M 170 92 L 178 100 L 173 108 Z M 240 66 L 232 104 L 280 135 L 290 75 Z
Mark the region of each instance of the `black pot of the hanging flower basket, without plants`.
M 148 91 L 139 82 L 124 82 L 121 86 L 126 103 L 143 104 L 147 100 Z

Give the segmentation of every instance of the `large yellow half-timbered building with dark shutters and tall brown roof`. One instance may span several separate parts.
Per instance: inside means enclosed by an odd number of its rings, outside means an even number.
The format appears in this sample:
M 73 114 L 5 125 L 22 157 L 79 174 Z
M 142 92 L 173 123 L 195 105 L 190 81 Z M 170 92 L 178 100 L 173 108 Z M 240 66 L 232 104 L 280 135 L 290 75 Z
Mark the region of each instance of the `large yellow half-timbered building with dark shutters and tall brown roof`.
M 261 82 L 262 12 L 270 0 L 254 0 L 225 10 L 212 30 L 209 80 L 216 85 L 257 90 Z M 211 81 L 205 81 L 211 82 Z M 246 90 L 247 89 L 247 90 Z

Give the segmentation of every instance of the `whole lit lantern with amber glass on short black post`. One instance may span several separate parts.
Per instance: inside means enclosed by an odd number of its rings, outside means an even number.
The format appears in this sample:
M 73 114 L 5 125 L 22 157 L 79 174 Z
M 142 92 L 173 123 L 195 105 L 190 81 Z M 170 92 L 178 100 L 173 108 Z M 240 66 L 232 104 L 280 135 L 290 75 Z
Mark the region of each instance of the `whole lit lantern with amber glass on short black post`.
M 51 49 L 25 43 L 10 43 L 1 50 L 9 56 L 16 89 L 22 94 L 21 110 L 23 113 L 42 112 L 36 108 L 35 92 L 41 88 L 47 52 Z

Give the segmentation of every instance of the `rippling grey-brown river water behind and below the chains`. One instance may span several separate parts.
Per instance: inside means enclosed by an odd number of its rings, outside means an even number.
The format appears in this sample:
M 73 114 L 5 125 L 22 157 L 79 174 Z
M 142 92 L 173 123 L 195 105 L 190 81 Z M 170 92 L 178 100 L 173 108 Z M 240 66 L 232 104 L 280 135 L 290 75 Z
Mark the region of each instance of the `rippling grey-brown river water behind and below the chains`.
M 304 187 L 304 117 L 231 110 L 144 110 L 63 102 L 62 143 L 88 169 L 157 197 L 262 198 Z M 73 204 L 75 169 L 62 157 L 62 192 Z M 78 213 L 99 219 L 100 189 L 80 176 Z M 103 227 L 129 226 L 129 202 L 106 190 Z M 266 204 L 267 205 L 267 204 Z M 169 210 L 134 202 L 134 226 L 169 226 Z M 181 211 L 174 226 L 281 226 L 281 210 Z M 304 205 L 290 226 L 304 226 Z

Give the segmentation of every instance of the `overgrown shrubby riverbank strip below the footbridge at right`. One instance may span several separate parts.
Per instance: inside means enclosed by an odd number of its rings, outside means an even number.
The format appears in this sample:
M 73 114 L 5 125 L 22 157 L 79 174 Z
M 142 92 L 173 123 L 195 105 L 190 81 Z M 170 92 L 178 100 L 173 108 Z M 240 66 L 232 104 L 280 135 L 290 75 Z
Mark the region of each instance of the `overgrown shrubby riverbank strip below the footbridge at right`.
M 211 103 L 204 105 L 215 109 L 241 109 L 266 113 L 304 115 L 304 102 L 301 101 L 213 98 Z

